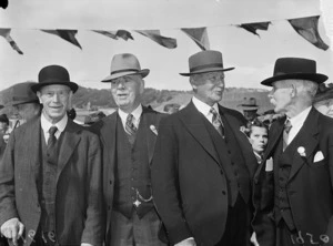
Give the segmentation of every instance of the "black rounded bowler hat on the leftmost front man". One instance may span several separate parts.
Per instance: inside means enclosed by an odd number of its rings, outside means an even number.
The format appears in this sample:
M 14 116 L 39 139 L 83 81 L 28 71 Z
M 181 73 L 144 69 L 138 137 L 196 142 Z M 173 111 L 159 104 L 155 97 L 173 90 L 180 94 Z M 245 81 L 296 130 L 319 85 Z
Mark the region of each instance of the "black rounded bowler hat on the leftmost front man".
M 38 83 L 31 86 L 33 92 L 39 91 L 42 86 L 51 84 L 62 84 L 69 86 L 73 93 L 78 91 L 77 83 L 70 81 L 69 72 L 61 65 L 48 65 L 38 74 Z

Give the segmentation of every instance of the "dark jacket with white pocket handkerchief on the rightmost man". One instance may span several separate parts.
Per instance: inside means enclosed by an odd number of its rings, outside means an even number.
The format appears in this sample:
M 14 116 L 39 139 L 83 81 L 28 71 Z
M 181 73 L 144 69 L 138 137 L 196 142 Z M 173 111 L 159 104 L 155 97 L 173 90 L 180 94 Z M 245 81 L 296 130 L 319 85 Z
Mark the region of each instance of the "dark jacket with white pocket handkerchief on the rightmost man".
M 273 172 L 265 172 L 265 162 L 279 144 L 283 134 L 285 119 L 273 123 L 268 148 L 254 177 L 255 217 L 254 229 L 261 245 L 274 245 L 274 176 L 279 168 L 274 162 Z M 292 168 L 286 185 L 292 216 L 296 229 L 310 244 L 310 236 L 319 240 L 320 235 L 329 235 L 333 243 L 333 120 L 322 115 L 315 109 L 310 111 L 302 129 L 293 141 L 305 148 L 302 157 L 297 147 L 293 154 Z M 322 152 L 324 160 L 314 163 L 314 156 Z M 274 172 L 278 175 L 278 171 Z M 319 240 L 322 243 L 321 240 Z

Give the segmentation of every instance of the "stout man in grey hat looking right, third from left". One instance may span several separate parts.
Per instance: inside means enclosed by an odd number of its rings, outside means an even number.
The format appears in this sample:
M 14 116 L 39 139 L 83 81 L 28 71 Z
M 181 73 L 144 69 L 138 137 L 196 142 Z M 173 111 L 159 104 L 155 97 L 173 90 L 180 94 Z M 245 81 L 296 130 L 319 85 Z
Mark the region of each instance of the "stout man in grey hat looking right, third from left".
M 250 244 L 251 177 L 256 160 L 240 131 L 245 119 L 219 104 L 219 51 L 189 59 L 194 96 L 161 121 L 152 163 L 153 197 L 172 245 Z

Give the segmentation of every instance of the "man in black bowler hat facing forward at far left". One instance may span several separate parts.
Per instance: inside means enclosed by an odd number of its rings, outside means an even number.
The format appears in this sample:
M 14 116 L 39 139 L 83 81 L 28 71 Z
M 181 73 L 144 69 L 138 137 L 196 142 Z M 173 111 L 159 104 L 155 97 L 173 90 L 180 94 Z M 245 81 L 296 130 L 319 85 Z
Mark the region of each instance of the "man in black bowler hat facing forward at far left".
M 49 65 L 31 86 L 39 117 L 16 129 L 0 165 L 0 229 L 13 245 L 102 245 L 102 163 L 99 137 L 67 109 L 78 84 Z

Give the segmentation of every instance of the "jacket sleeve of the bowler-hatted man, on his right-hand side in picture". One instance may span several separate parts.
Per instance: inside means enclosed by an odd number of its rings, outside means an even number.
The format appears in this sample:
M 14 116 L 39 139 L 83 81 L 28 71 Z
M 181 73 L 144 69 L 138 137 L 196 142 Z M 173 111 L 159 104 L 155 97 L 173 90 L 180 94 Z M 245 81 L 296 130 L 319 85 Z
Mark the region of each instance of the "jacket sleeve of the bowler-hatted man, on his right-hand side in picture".
M 90 134 L 88 143 L 87 170 L 87 218 L 81 243 L 93 246 L 102 245 L 104 238 L 104 207 L 102 201 L 102 161 L 100 141 L 97 135 Z

